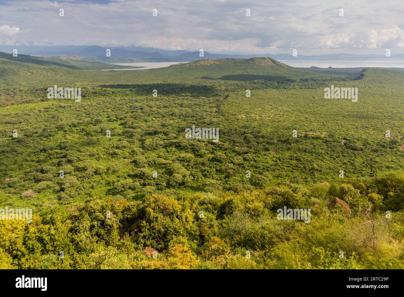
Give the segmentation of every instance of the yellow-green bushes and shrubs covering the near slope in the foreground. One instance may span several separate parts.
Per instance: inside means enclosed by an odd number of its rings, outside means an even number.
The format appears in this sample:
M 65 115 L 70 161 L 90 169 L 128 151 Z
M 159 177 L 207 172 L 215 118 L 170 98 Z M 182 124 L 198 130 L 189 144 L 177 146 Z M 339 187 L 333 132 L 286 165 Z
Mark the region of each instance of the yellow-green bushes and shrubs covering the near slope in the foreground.
M 402 173 L 388 173 L 220 196 L 94 197 L 44 210 L 30 224 L 0 221 L 0 267 L 403 269 L 403 185 Z M 335 195 L 351 214 L 327 207 Z M 311 222 L 276 219 L 284 206 L 311 209 Z

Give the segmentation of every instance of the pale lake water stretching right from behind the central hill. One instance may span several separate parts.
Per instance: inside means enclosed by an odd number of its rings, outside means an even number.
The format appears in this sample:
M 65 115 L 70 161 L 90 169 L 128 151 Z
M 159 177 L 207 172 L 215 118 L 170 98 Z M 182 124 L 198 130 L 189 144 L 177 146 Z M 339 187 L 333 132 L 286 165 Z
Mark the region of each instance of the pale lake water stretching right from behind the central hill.
M 292 67 L 311 67 L 320 68 L 353 68 L 353 67 L 396 67 L 404 68 L 404 61 L 298 61 L 298 60 L 279 60 L 280 62 Z

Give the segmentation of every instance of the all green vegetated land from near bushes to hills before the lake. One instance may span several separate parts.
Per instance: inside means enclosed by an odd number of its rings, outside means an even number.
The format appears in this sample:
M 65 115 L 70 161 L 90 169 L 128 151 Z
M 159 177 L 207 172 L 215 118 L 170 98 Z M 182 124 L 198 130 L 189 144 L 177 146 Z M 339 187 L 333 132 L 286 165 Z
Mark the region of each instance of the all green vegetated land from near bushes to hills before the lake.
M 0 220 L 0 268 L 404 268 L 404 72 L 4 55 L 0 208 L 34 216 Z

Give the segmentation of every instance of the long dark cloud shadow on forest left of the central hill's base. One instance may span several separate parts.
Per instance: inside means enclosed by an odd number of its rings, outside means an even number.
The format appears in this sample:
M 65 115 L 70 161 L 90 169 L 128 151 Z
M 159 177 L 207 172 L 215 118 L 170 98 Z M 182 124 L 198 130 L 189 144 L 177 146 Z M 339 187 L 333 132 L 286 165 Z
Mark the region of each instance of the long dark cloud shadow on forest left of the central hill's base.
M 138 95 L 150 95 L 157 90 L 157 95 L 188 95 L 191 97 L 212 97 L 217 96 L 217 89 L 214 86 L 198 84 L 101 84 L 101 88 L 129 89 Z

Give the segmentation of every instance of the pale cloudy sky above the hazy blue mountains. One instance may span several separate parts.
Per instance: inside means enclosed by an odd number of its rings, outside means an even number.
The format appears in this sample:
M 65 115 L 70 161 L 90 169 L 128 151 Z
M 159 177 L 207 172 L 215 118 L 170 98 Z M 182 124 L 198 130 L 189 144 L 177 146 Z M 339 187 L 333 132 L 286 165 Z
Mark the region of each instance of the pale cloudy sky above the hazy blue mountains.
M 403 0 L 0 0 L 0 44 L 395 55 L 403 16 Z

